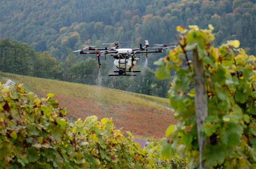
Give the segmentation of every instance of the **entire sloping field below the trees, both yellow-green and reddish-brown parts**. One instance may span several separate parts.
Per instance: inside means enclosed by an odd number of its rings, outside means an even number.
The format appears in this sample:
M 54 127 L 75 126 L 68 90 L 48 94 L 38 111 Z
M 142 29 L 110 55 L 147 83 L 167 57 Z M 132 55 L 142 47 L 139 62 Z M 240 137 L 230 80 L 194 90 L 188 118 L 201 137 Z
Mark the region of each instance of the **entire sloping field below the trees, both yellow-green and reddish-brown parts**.
M 96 115 L 113 118 L 116 127 L 132 131 L 135 135 L 162 137 L 170 124 L 177 123 L 169 107 L 169 99 L 135 94 L 109 88 L 96 88 L 86 84 L 69 83 L 44 78 L 1 73 L 16 82 L 24 83 L 30 91 L 41 97 L 55 94 L 59 107 L 67 107 L 70 120 Z

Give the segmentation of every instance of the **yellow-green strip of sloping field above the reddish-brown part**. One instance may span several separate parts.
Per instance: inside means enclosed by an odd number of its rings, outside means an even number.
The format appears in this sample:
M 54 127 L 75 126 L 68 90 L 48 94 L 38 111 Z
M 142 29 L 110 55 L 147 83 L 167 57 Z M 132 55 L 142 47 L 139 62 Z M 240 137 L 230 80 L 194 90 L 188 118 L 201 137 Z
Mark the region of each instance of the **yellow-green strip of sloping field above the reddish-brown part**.
M 150 107 L 169 107 L 169 99 L 135 94 L 109 88 L 96 88 L 87 84 L 70 83 L 66 81 L 50 80 L 45 78 L 28 77 L 1 73 L 2 77 L 10 77 L 25 83 L 32 91 L 52 92 L 57 95 L 96 99 L 98 101 L 112 101 L 115 103 L 138 104 Z

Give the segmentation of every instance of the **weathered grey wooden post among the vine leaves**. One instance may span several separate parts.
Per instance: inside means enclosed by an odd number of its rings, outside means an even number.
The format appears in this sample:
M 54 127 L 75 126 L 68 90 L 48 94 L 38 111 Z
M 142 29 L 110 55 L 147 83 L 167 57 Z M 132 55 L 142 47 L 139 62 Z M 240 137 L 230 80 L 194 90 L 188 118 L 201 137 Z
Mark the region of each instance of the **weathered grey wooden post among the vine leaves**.
M 203 135 L 201 135 L 201 127 L 204 124 L 206 116 L 208 116 L 208 104 L 204 78 L 204 63 L 203 60 L 200 60 L 198 57 L 197 48 L 192 50 L 192 64 L 194 68 L 195 112 L 197 114 L 197 135 L 200 153 L 200 169 L 207 169 L 208 167 L 205 167 L 204 161 L 201 160 L 201 154 L 204 145 L 209 144 L 210 139 L 207 137 L 203 140 Z

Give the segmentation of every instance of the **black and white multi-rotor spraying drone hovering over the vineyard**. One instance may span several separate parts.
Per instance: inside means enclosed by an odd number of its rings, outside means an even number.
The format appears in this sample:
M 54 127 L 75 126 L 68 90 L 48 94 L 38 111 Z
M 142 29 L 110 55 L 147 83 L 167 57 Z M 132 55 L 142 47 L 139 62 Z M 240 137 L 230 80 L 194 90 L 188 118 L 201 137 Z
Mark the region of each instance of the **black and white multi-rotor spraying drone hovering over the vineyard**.
M 130 41 L 129 41 L 130 42 Z M 128 42 L 128 43 L 129 43 Z M 118 74 L 109 74 L 109 76 L 120 76 L 120 75 L 126 75 L 126 76 L 136 76 L 136 74 L 133 74 L 133 72 L 141 72 L 140 70 L 133 70 L 136 66 L 136 61 L 140 59 L 136 54 L 141 54 L 143 56 L 143 53 L 146 54 L 146 57 L 148 53 L 162 53 L 163 49 L 172 48 L 176 45 L 173 44 L 155 44 L 155 46 L 160 46 L 157 48 L 149 48 L 149 41 L 145 40 L 145 45 L 142 46 L 140 43 L 140 48 L 118 48 L 119 44 L 121 43 L 127 43 L 127 42 L 120 42 L 120 43 L 103 43 L 103 45 L 115 45 L 112 48 L 94 48 L 96 46 L 90 46 L 85 45 L 86 47 L 83 49 L 79 49 L 77 51 L 73 51 L 74 53 L 79 52 L 79 54 L 96 54 L 96 57 L 98 57 L 98 64 L 101 68 L 101 63 L 99 61 L 100 56 L 111 55 L 115 59 L 114 65 L 118 70 L 113 71 Z M 170 46 L 173 45 L 173 46 Z M 93 52 L 84 52 L 84 49 L 88 49 Z M 132 74 L 128 74 L 126 72 L 132 72 Z

